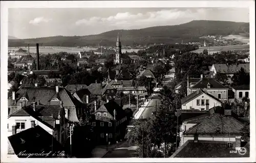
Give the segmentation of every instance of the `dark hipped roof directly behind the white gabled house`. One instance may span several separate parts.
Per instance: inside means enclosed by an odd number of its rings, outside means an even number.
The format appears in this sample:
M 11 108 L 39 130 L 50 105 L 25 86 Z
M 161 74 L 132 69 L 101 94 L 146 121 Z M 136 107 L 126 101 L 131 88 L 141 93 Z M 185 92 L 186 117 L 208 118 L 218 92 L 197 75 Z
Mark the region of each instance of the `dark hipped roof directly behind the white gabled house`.
M 203 77 L 195 84 L 194 86 L 190 87 L 190 89 L 204 89 L 207 88 L 208 83 L 210 84 L 210 89 L 227 89 L 227 87 L 223 86 L 219 83 L 215 78 L 208 78 Z

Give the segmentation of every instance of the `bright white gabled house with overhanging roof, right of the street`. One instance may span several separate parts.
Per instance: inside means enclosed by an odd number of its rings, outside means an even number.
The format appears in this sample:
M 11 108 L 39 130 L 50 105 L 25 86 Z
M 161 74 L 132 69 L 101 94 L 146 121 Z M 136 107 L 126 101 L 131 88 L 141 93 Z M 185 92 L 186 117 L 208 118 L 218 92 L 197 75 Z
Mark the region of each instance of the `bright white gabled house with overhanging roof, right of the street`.
M 209 108 L 214 106 L 221 106 L 221 101 L 207 93 L 206 90 L 197 89 L 195 92 L 187 95 L 181 99 L 181 109 L 182 110 L 201 110 L 208 111 Z

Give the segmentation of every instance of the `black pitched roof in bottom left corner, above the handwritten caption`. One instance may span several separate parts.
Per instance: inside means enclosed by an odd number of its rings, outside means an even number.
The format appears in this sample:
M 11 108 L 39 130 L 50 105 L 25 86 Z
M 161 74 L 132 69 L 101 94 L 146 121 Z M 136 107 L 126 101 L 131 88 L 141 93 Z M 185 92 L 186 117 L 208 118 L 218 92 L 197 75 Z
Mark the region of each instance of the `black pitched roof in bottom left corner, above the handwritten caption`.
M 58 151 L 65 151 L 63 147 L 59 144 L 59 142 L 53 138 L 53 136 L 47 132 L 45 129 L 41 128 L 40 126 L 35 126 L 14 135 L 8 137 L 10 144 L 14 150 L 15 155 L 19 158 L 27 158 L 28 155 L 19 154 L 20 152 L 25 153 L 55 153 Z M 52 154 L 38 156 L 32 155 L 31 158 L 51 158 L 51 157 L 59 157 L 53 156 Z

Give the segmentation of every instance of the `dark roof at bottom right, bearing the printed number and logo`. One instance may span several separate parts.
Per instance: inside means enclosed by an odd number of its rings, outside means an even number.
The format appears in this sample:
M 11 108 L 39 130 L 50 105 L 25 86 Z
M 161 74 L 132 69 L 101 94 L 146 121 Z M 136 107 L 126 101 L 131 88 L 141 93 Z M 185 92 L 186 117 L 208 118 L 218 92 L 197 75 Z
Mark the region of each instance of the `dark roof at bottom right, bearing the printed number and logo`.
M 227 147 L 228 142 L 223 141 L 201 141 L 199 140 L 197 143 L 194 140 L 188 140 L 184 143 L 172 156 L 170 157 L 249 157 L 250 156 L 250 144 L 247 143 L 245 146 L 246 153 L 244 155 L 237 153 L 231 153 L 231 150 L 235 150 L 233 148 Z M 236 146 L 235 142 L 233 143 L 233 147 Z

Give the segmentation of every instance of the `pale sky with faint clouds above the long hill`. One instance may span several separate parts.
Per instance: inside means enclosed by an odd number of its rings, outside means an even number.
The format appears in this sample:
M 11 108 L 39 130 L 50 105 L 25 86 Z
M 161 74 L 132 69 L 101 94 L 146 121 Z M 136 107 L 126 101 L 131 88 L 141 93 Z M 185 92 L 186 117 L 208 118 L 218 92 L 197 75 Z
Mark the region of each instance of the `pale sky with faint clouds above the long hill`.
M 192 20 L 249 22 L 248 8 L 9 8 L 8 35 L 19 39 L 86 36 Z

